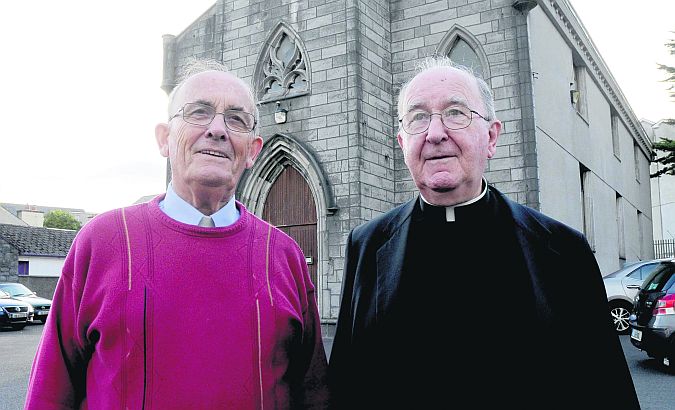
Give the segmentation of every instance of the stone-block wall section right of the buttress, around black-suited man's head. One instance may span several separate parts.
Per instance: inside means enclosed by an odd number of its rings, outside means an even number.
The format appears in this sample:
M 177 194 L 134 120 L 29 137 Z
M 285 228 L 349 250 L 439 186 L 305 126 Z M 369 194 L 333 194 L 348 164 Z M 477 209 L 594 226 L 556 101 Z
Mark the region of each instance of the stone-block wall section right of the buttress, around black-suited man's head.
M 462 30 L 479 44 L 487 58 L 497 118 L 503 123 L 496 155 L 486 178 L 512 199 L 538 208 L 536 147 L 527 15 L 511 0 L 392 2 L 392 75 L 394 94 L 410 79 L 415 64 L 440 50 L 449 32 Z M 395 202 L 416 193 L 415 185 L 395 150 Z

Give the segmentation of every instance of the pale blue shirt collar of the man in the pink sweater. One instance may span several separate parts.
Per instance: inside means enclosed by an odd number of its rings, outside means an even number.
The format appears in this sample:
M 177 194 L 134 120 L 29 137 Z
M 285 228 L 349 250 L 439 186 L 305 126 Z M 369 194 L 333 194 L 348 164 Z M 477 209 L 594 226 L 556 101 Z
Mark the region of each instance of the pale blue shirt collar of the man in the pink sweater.
M 202 217 L 205 216 L 183 198 L 178 196 L 171 183 L 169 183 L 169 186 L 166 188 L 164 199 L 159 202 L 159 209 L 171 219 L 189 225 L 198 225 Z M 239 210 L 235 204 L 234 195 L 232 195 L 232 198 L 230 198 L 224 207 L 220 208 L 216 213 L 210 216 L 216 227 L 229 226 L 237 222 L 239 219 Z

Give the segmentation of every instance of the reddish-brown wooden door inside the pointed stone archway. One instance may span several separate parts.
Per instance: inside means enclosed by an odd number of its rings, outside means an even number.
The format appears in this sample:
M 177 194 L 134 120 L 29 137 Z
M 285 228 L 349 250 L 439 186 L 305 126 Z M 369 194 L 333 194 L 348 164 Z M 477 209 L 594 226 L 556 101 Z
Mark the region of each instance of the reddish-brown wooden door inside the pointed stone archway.
M 287 166 L 269 190 L 263 219 L 295 239 L 305 254 L 309 276 L 317 284 L 316 204 L 312 191 L 295 168 Z M 318 294 L 318 289 L 317 289 Z

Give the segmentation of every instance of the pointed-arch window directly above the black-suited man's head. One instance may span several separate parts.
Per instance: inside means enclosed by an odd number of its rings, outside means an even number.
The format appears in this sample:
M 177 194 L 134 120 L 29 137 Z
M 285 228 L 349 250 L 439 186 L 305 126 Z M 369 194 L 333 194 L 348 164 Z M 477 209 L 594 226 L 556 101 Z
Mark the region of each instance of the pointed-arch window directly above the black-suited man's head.
M 490 78 L 490 67 L 483 47 L 473 34 L 461 26 L 452 26 L 439 43 L 436 54 L 448 56 L 455 63 L 471 68 L 484 80 Z

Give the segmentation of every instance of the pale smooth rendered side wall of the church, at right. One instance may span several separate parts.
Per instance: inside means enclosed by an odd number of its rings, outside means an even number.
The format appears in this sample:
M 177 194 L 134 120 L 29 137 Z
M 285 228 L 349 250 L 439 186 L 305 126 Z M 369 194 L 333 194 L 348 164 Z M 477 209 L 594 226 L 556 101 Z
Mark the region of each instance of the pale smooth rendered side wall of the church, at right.
M 652 229 L 644 226 L 651 225 L 647 156 L 640 155 L 638 181 L 633 136 L 622 121 L 619 121 L 620 155 L 618 158 L 614 155 L 611 104 L 588 69 L 582 94 L 587 114 L 582 117 L 577 113 L 570 100 L 570 83 L 574 83 L 574 49 L 541 7 L 530 12 L 529 31 L 541 211 L 584 230 L 581 164 L 591 172 L 590 183 L 585 189 L 592 198 L 592 242 L 603 274 L 620 267 L 617 193 L 625 200 L 626 259 L 649 258 L 650 252 L 653 254 Z M 642 212 L 642 242 L 637 210 Z

